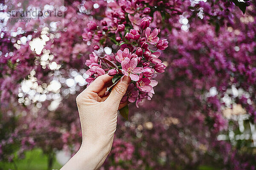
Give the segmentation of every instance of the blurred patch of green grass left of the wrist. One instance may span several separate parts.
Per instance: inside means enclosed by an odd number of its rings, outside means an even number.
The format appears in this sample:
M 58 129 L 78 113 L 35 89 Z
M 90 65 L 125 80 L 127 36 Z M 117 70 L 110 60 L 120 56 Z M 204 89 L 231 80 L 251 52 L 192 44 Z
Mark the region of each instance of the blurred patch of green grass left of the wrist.
M 15 164 L 17 169 L 15 169 Z M 0 170 L 47 170 L 47 156 L 41 149 L 34 149 L 25 153 L 25 159 L 16 160 L 14 163 L 1 162 Z M 52 169 L 59 170 L 61 165 L 54 160 Z

